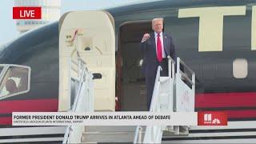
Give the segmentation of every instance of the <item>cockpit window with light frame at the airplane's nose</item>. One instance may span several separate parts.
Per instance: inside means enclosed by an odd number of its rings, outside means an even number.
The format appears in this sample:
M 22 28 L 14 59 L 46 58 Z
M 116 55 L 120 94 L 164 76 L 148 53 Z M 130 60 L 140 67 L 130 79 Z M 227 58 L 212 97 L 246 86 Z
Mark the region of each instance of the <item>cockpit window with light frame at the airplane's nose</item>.
M 9 66 L 0 85 L 0 98 L 26 93 L 29 90 L 29 75 L 28 68 Z

